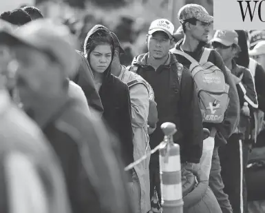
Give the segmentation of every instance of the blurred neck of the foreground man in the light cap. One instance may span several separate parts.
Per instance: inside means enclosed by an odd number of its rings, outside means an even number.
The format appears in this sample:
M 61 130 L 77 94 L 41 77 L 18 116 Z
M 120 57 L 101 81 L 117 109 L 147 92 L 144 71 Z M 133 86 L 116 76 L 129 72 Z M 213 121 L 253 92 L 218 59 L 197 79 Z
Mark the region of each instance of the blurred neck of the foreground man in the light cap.
M 67 92 L 63 92 L 56 97 L 38 100 L 36 105 L 25 111 L 41 128 L 45 128 L 47 122 L 53 119 L 54 114 L 58 113 L 69 99 Z

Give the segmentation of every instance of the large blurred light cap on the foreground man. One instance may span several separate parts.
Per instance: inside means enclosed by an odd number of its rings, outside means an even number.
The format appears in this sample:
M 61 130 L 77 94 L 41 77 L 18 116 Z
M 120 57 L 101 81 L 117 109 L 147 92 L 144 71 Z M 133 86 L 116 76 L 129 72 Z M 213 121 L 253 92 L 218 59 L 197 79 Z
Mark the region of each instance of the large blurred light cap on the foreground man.
M 10 46 L 23 44 L 51 54 L 62 65 L 67 77 L 71 77 L 77 70 L 76 39 L 62 24 L 36 19 L 12 32 L 3 29 L 0 30 L 0 43 Z

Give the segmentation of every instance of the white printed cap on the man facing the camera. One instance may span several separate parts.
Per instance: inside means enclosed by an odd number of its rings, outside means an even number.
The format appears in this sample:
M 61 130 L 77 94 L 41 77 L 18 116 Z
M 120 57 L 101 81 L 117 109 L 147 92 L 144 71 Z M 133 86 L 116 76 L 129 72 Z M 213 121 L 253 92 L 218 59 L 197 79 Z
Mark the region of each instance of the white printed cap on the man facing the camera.
M 148 34 L 153 34 L 153 32 L 162 31 L 168 34 L 169 38 L 173 37 L 174 26 L 171 21 L 167 19 L 156 19 L 153 21 L 149 27 Z

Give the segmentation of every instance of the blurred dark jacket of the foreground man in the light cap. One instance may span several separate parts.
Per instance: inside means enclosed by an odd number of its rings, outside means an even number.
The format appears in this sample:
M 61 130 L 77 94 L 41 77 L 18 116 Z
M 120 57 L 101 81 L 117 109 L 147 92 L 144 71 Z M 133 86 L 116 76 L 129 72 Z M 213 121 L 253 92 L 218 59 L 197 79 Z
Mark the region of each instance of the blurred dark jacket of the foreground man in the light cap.
M 42 126 L 61 161 L 72 212 L 131 212 L 123 168 L 109 137 L 100 136 L 105 127 L 77 104 L 67 101 Z

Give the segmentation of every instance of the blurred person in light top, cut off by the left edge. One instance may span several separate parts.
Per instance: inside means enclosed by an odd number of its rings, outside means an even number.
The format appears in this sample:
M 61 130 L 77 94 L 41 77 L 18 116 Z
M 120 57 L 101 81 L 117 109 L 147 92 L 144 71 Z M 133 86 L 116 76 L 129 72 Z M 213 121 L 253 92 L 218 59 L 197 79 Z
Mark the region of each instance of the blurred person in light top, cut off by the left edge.
M 0 212 L 70 213 L 54 150 L 36 124 L 12 103 L 6 89 L 17 71 L 3 38 L 12 28 L 0 20 Z

